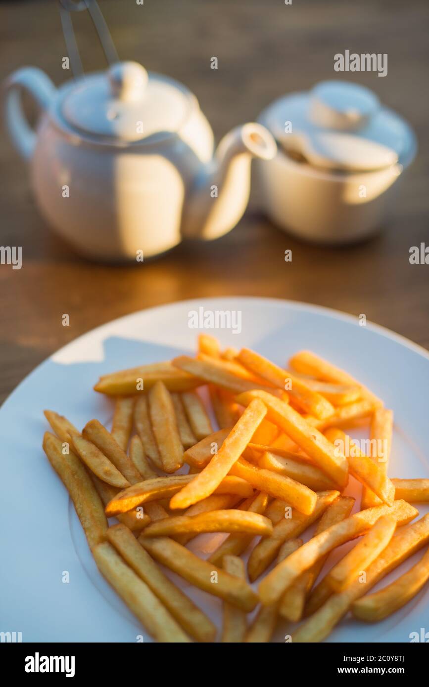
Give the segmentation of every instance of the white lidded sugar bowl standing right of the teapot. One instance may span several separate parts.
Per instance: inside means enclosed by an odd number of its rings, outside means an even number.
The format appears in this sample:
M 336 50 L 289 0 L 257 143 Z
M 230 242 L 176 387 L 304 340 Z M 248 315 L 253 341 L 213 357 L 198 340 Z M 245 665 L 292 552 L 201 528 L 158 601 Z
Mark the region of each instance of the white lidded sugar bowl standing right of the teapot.
M 276 225 L 305 240 L 342 244 L 384 224 L 417 142 L 374 93 L 321 82 L 279 98 L 258 121 L 278 144 L 274 159 L 256 163 L 263 206 Z

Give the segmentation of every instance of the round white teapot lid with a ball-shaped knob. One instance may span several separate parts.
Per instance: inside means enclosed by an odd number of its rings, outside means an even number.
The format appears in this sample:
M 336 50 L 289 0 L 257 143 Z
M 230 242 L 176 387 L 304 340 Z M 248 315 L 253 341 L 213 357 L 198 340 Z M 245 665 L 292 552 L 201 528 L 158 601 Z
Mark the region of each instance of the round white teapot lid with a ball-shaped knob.
M 178 131 L 190 98 L 179 82 L 148 73 L 137 62 L 118 62 L 78 79 L 61 110 L 69 124 L 86 134 L 133 142 Z

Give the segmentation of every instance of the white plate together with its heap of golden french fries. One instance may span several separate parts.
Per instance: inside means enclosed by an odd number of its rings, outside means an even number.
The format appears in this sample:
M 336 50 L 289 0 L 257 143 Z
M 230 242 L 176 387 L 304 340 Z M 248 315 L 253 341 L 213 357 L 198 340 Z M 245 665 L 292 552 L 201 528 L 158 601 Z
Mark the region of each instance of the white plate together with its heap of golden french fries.
M 361 325 L 281 300 L 181 302 L 39 366 L 0 411 L 0 630 L 413 641 L 429 617 L 429 355 Z

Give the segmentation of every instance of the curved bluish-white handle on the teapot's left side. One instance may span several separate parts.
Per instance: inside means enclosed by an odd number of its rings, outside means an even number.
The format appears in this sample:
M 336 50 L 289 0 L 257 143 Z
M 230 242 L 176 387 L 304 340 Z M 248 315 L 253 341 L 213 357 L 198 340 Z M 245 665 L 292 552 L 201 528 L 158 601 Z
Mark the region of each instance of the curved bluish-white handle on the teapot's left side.
M 21 91 L 27 90 L 42 110 L 54 98 L 56 88 L 49 76 L 36 67 L 17 69 L 5 81 L 5 120 L 14 146 L 24 159 L 32 157 L 36 133 L 28 124 L 21 104 Z

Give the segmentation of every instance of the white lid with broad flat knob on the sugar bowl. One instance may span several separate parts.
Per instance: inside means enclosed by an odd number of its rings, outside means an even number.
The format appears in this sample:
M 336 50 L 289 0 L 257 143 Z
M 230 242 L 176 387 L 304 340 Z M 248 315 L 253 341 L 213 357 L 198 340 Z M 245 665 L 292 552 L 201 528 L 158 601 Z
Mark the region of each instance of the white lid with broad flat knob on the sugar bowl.
M 286 150 L 325 168 L 363 171 L 398 161 L 404 166 L 415 154 L 408 124 L 375 93 L 352 82 L 324 81 L 308 93 L 279 98 L 261 122 Z

